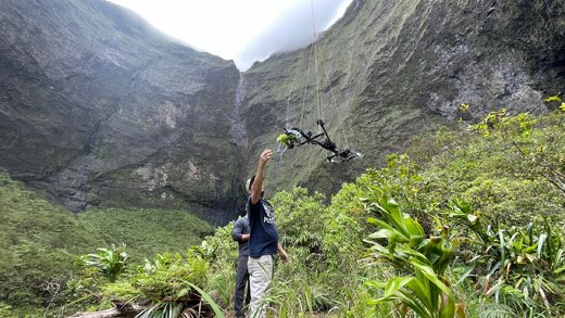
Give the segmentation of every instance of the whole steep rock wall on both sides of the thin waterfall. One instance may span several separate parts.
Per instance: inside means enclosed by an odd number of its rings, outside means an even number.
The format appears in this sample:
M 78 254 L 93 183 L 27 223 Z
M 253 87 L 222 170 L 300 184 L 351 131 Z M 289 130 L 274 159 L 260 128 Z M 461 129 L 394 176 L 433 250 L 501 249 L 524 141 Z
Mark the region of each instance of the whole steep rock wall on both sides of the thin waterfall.
M 74 211 L 187 208 L 225 222 L 285 126 L 326 123 L 363 161 L 313 145 L 267 191 L 335 191 L 419 136 L 565 87 L 563 0 L 354 0 L 315 46 L 240 76 L 100 0 L 0 2 L 0 166 Z M 460 105 L 469 104 L 462 113 Z

